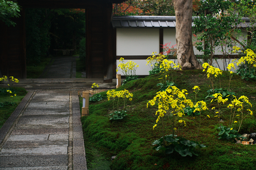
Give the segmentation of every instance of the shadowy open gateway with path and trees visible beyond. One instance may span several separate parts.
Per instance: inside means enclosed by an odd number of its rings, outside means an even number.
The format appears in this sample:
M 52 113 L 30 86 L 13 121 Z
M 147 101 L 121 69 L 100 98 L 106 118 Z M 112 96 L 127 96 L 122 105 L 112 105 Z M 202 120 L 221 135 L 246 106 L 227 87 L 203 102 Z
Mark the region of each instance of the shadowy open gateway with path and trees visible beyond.
M 76 78 L 79 54 L 85 70 L 85 9 L 27 8 L 25 16 L 28 79 Z

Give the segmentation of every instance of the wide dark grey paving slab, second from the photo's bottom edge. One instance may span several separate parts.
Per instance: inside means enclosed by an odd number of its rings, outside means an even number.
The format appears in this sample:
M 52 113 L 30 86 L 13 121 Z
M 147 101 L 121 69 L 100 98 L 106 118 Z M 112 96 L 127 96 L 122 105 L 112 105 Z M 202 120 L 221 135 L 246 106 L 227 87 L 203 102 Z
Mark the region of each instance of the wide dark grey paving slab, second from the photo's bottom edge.
M 67 166 L 67 155 L 0 156 L 0 168 Z M 37 167 L 35 167 L 37 166 Z

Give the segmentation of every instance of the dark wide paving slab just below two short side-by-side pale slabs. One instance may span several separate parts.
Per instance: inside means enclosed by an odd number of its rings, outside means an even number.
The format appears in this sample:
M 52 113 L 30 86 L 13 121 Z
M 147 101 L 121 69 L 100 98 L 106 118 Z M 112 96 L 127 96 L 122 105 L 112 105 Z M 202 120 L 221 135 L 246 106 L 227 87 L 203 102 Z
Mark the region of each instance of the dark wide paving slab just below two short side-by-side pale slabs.
M 68 140 L 6 141 L 3 148 L 67 147 Z

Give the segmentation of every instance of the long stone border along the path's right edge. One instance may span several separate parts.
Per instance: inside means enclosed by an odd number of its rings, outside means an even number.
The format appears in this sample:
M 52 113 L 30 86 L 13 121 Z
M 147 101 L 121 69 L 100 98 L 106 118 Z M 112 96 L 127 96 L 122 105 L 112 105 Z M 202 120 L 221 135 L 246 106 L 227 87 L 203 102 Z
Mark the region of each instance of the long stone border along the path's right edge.
M 72 91 L 73 170 L 87 170 L 77 91 Z

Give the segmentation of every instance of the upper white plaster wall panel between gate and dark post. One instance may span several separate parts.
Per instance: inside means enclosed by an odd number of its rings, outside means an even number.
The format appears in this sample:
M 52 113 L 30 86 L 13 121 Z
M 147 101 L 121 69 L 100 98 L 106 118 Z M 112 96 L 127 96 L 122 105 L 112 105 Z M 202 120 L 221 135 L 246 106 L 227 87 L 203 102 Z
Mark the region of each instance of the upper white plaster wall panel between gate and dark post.
M 159 53 L 159 29 L 116 29 L 117 56 L 144 56 L 152 52 Z

